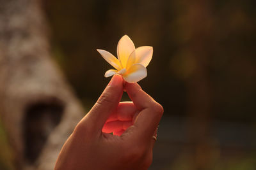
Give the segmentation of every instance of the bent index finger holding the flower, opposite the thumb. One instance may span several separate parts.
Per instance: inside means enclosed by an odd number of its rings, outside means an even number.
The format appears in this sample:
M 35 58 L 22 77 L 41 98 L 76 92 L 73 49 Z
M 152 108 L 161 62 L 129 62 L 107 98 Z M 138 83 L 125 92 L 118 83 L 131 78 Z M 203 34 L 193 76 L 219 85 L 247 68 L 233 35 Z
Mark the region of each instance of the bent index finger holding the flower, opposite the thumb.
M 138 83 L 126 83 L 125 90 L 140 113 L 134 122 L 134 138 L 152 140 L 163 115 L 163 107 L 148 96 Z

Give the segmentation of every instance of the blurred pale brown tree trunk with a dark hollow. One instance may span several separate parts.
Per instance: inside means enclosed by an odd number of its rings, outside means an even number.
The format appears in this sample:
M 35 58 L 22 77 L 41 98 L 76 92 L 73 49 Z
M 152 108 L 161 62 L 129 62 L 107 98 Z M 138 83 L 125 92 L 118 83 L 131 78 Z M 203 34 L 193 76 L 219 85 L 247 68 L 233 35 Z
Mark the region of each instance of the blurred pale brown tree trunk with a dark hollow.
M 0 116 L 17 169 L 53 169 L 83 108 L 50 58 L 39 0 L 0 0 Z

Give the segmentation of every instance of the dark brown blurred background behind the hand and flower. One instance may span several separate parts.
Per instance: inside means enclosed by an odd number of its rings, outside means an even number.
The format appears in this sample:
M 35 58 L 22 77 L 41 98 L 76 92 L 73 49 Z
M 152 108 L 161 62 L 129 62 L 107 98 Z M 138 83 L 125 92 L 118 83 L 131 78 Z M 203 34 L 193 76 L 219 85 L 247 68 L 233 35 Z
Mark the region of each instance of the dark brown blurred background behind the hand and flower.
M 256 1 L 44 1 L 51 55 L 93 106 L 127 34 L 154 47 L 139 84 L 164 107 L 150 169 L 256 169 Z M 124 101 L 129 100 L 124 94 Z M 1 153 L 8 142 L 0 129 Z M 6 155 L 1 155 L 1 162 Z

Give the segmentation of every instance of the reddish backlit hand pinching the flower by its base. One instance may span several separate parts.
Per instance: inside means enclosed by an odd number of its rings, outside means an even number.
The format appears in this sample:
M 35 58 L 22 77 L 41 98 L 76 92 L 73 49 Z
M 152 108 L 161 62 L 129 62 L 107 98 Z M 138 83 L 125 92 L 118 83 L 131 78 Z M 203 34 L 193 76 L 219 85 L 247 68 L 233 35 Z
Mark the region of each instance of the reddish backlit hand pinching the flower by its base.
M 120 103 L 124 91 L 132 102 Z M 138 83 L 115 74 L 63 145 L 54 169 L 148 169 L 162 115 L 163 107 Z

